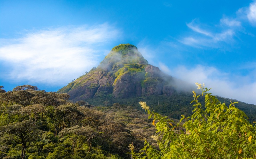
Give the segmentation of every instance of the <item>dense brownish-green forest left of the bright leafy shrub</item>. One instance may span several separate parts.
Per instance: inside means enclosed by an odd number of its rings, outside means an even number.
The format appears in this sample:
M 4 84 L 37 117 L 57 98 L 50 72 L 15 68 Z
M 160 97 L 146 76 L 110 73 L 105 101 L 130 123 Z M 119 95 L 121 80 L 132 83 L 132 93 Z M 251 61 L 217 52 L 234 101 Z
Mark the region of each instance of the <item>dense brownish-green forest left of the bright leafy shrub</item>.
M 154 134 L 147 115 L 113 104 L 95 107 L 71 103 L 66 93 L 36 86 L 0 87 L 0 158 L 82 159 L 126 158 L 129 144 L 143 147 Z

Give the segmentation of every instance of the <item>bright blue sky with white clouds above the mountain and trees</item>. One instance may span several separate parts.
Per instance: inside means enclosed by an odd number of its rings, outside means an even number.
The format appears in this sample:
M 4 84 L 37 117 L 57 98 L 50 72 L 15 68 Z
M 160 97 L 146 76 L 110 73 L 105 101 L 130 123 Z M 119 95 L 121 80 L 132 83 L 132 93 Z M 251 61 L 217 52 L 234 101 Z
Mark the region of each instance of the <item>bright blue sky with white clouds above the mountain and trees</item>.
M 57 91 L 130 43 L 171 76 L 256 104 L 255 42 L 252 0 L 0 0 L 0 85 Z

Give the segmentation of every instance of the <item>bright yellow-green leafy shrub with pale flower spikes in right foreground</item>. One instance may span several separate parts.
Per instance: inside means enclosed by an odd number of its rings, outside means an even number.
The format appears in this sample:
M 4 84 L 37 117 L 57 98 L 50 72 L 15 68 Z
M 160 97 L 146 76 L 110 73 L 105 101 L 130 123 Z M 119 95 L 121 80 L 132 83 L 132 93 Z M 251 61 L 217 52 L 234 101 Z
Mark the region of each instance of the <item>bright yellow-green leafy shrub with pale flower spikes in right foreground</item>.
M 145 141 L 145 147 L 136 154 L 130 145 L 133 158 L 256 158 L 256 127 L 247 120 L 245 113 L 235 107 L 236 102 L 226 106 L 196 83 L 202 94 L 193 91 L 193 114 L 179 123 L 163 117 L 145 102 L 141 106 L 153 118 L 157 135 L 152 136 L 159 146 L 156 149 Z M 205 98 L 205 109 L 198 101 Z M 182 125 L 182 126 L 180 126 Z

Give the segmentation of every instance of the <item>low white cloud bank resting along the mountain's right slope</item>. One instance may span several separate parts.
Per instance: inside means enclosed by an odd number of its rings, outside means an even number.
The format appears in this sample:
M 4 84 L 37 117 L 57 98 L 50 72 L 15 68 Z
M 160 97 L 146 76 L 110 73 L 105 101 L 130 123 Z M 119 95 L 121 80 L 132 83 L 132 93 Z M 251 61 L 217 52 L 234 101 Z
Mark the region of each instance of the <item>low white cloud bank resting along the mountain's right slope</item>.
M 256 78 L 254 76 L 255 71 L 252 71 L 247 76 L 238 76 L 222 72 L 215 67 L 202 65 L 197 65 L 194 68 L 179 66 L 173 69 L 168 69 L 164 64 L 159 66 L 160 70 L 165 73 L 191 84 L 195 82 L 205 83 L 206 87 L 213 88 L 211 92 L 215 95 L 256 104 L 256 82 L 255 79 L 251 80 Z

